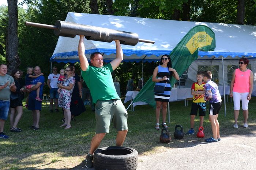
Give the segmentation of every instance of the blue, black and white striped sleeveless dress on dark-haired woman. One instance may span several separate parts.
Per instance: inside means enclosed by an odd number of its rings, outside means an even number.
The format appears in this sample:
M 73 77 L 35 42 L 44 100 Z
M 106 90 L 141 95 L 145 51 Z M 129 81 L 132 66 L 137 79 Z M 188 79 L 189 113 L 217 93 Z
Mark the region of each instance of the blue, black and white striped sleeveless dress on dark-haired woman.
M 157 67 L 158 67 L 158 73 L 157 73 L 158 79 L 162 79 L 164 76 L 168 77 L 169 75 L 168 67 L 162 67 L 162 66 L 157 66 Z M 166 86 L 165 86 L 165 83 L 166 83 Z M 171 94 L 170 79 L 168 78 L 167 80 L 156 82 L 155 85 L 160 85 L 163 87 L 165 86 L 164 93 L 155 93 L 155 101 L 169 102 L 170 94 Z

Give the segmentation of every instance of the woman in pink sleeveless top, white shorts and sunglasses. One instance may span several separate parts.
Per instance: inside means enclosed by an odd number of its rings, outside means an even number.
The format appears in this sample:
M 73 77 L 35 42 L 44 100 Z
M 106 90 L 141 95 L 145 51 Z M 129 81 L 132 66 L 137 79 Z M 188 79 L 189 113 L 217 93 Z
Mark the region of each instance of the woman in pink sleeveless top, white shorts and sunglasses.
M 249 64 L 249 60 L 247 58 L 240 59 L 238 64 L 239 68 L 233 72 L 229 94 L 234 100 L 234 128 L 238 128 L 237 119 L 240 110 L 240 100 L 242 100 L 242 110 L 244 115 L 243 127 L 248 127 L 248 103 L 251 99 L 253 89 L 253 73 L 251 70 L 246 68 L 246 66 Z

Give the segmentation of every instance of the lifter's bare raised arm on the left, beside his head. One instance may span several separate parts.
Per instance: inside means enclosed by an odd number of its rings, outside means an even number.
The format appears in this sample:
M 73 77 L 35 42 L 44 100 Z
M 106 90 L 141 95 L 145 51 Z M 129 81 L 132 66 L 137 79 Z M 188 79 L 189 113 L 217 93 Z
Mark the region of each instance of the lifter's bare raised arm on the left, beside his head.
M 80 35 L 80 40 L 79 40 L 79 44 L 78 44 L 78 56 L 79 56 L 79 60 L 80 60 L 81 70 L 86 71 L 87 67 L 89 66 L 89 63 L 88 63 L 86 56 L 84 55 L 85 48 L 84 48 L 83 40 L 84 40 L 84 36 Z

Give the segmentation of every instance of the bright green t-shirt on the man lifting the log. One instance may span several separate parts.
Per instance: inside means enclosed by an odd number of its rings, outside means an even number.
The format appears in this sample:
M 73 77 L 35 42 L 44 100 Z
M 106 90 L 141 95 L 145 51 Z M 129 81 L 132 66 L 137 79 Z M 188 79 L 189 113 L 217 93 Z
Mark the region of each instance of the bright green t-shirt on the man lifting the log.
M 112 79 L 113 68 L 110 63 L 98 68 L 88 66 L 86 71 L 82 71 L 82 76 L 90 89 L 93 103 L 98 100 L 120 99 Z

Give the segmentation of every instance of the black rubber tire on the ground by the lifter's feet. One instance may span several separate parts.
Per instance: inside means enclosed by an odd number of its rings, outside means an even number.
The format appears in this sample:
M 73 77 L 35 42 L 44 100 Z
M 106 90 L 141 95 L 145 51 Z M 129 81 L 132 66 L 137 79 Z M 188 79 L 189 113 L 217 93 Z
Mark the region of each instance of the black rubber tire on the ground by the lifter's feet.
M 95 170 L 136 170 L 138 152 L 130 147 L 109 146 L 95 150 Z

